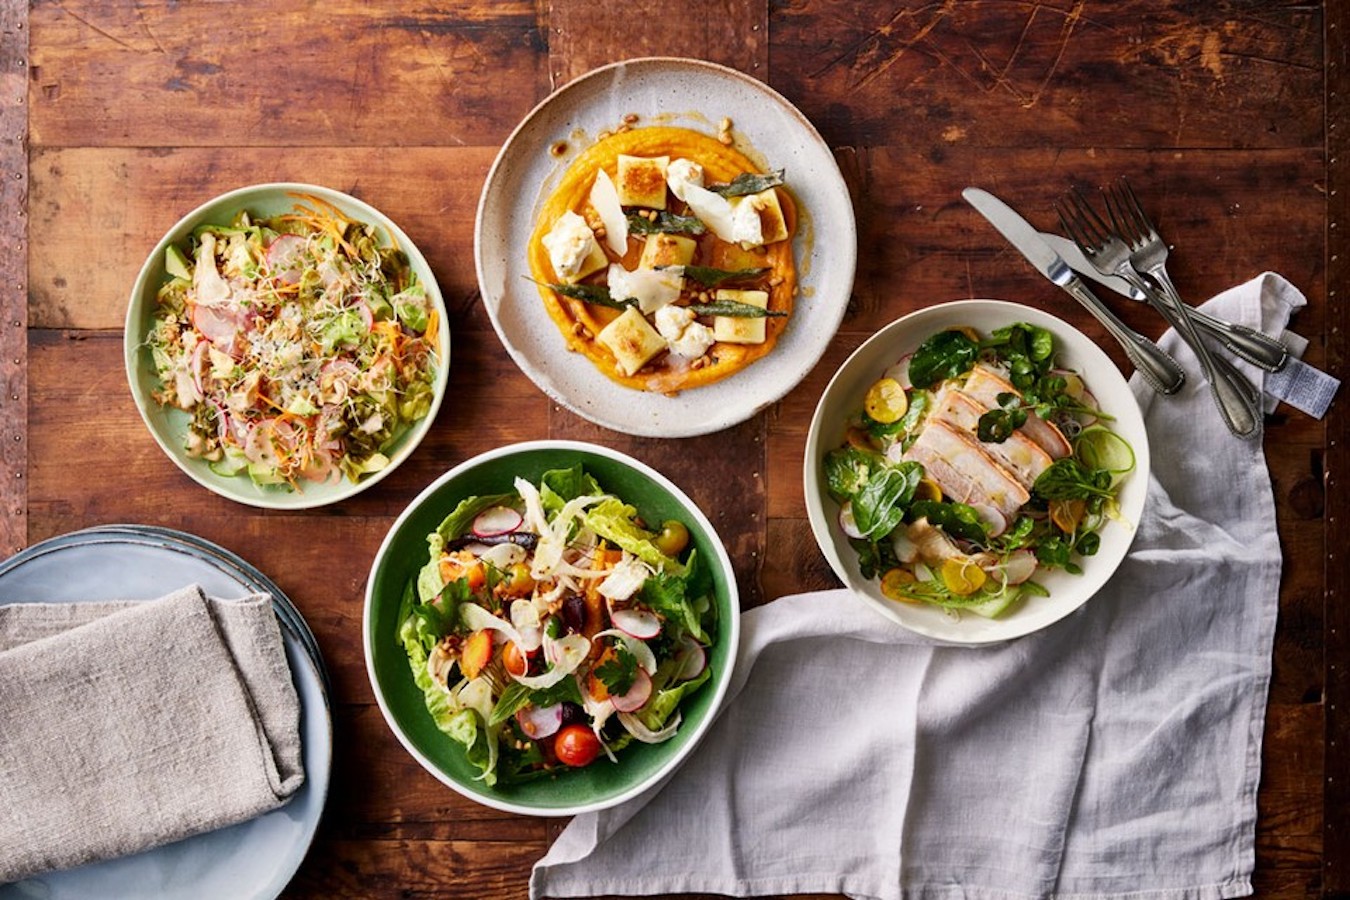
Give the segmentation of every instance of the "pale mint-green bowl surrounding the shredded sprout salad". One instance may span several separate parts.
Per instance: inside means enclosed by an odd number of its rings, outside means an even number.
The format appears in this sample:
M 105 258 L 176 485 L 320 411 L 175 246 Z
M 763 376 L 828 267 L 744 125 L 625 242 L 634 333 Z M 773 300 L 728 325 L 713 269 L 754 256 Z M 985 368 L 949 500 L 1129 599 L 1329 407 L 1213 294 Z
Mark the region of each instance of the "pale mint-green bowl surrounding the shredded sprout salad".
M 151 391 L 159 387 L 159 379 L 155 375 L 150 351 L 144 347 L 144 337 L 150 332 L 154 320 L 155 293 L 165 282 L 165 250 L 170 244 L 184 247 L 188 236 L 197 225 L 228 224 L 242 209 L 247 209 L 255 219 L 290 212 L 304 194 L 332 204 L 354 220 L 377 225 L 383 232 L 386 242 L 392 242 L 404 251 L 412 270 L 417 274 L 417 279 L 427 289 L 427 297 L 435 305 L 439 314 L 440 364 L 436 371 L 431 410 L 408 429 L 394 444 L 393 449 L 386 453 L 390 457 L 389 466 L 362 478 L 359 482 L 350 482 L 344 478 L 336 483 L 305 483 L 302 490 L 290 490 L 285 486 L 263 487 L 254 484 L 247 475 L 219 475 L 211 470 L 205 460 L 188 456 L 184 449 L 188 433 L 188 414 L 178 409 L 162 406 L 151 398 Z M 123 354 L 126 358 L 127 381 L 131 385 L 136 409 L 140 410 L 140 417 L 144 420 L 155 443 L 159 444 L 178 468 L 202 487 L 239 503 L 267 509 L 308 509 L 347 499 L 375 484 L 393 472 L 402 460 L 408 459 L 417 444 L 421 443 L 431 424 L 435 421 L 436 412 L 440 409 L 440 402 L 446 395 L 446 381 L 450 375 L 450 324 L 446 316 L 446 302 L 441 298 L 440 287 L 431 271 L 431 266 L 408 235 L 387 216 L 355 197 L 329 188 L 304 184 L 266 184 L 239 188 L 207 201 L 180 219 L 178 224 L 170 228 L 169 233 L 155 244 L 155 248 L 140 267 L 140 274 L 136 277 L 136 283 L 131 290 Z

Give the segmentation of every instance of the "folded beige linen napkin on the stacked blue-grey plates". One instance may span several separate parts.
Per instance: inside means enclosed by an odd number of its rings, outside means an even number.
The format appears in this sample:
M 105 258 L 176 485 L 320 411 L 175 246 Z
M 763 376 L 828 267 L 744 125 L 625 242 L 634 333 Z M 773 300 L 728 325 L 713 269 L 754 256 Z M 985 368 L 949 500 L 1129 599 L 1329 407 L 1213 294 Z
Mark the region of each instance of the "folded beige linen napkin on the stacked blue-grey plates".
M 0 882 L 267 812 L 300 752 L 266 594 L 0 607 Z

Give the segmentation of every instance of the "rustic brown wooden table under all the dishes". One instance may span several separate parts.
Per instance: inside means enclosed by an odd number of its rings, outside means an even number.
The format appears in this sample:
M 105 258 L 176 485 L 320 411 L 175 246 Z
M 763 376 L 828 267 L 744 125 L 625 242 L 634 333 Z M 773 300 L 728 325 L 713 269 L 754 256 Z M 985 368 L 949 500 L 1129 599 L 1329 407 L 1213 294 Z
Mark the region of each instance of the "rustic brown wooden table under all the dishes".
M 563 823 L 443 788 L 398 746 L 366 680 L 366 573 L 402 506 L 491 447 L 593 440 L 714 511 L 747 606 L 834 584 L 799 471 L 815 399 L 850 349 L 964 297 L 1018 300 L 1100 335 L 961 202 L 968 184 L 1050 227 L 1061 190 L 1129 173 L 1176 244 L 1183 293 L 1278 271 L 1308 296 L 1295 322 L 1308 359 L 1343 372 L 1347 8 L 3 0 L 0 546 L 144 522 L 258 565 L 333 675 L 335 784 L 292 895 L 524 897 Z M 780 90 L 836 150 L 857 209 L 857 283 L 825 359 L 782 402 L 707 437 L 632 439 L 559 409 L 510 362 L 475 286 L 474 212 L 504 139 L 554 88 L 637 55 L 701 57 Z M 429 439 L 378 488 L 309 513 L 243 507 L 188 480 L 142 425 L 122 367 L 150 247 L 202 200 L 263 181 L 319 182 L 385 210 L 431 259 L 452 318 L 452 399 Z M 1161 332 L 1148 310 L 1122 312 Z M 1266 428 L 1285 576 L 1258 896 L 1350 896 L 1346 409 L 1319 422 L 1281 407 Z

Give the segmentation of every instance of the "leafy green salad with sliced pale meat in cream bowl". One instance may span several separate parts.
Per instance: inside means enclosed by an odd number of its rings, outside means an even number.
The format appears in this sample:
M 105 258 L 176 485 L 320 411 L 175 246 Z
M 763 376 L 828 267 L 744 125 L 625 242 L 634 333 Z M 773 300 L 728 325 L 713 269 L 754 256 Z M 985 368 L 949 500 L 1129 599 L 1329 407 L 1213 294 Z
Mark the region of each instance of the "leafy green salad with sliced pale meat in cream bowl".
M 1134 451 L 1056 354 L 1025 322 L 948 329 L 868 389 L 824 475 L 883 595 L 998 617 L 1096 553 Z

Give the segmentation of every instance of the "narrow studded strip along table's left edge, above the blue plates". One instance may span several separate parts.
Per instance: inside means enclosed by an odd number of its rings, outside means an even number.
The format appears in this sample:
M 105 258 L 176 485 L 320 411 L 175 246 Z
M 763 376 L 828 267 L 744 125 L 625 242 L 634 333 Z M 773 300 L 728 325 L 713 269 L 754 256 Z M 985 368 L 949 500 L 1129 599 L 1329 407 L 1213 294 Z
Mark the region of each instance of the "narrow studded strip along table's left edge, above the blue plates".
M 0 555 L 27 544 L 28 4 L 0 3 Z

